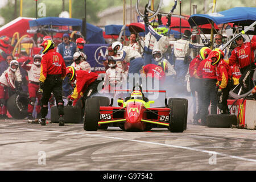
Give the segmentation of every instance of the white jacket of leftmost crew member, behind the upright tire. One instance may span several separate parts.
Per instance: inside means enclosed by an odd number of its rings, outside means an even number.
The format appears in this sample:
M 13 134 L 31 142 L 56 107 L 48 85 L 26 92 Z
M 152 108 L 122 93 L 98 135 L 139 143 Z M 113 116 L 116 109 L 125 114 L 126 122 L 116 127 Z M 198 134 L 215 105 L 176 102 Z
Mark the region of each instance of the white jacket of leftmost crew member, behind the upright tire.
M 22 81 L 22 75 L 20 74 L 19 68 L 14 73 L 10 67 L 4 71 L 0 77 L 0 84 L 15 89 L 14 81 Z

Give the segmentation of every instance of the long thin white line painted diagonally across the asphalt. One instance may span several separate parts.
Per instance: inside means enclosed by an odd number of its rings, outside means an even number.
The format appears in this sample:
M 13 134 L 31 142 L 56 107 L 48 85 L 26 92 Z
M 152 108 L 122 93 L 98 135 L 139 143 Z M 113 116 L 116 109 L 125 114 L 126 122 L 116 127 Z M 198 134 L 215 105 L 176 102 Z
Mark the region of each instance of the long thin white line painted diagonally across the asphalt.
M 102 136 L 102 135 L 97 135 L 97 134 L 84 134 L 84 133 L 70 133 L 70 132 L 63 132 L 63 131 L 51 131 L 51 130 L 36 130 L 36 129 L 22 129 L 21 130 L 32 130 L 32 131 L 44 131 L 44 132 L 50 132 L 50 133 L 63 133 L 63 134 L 73 134 L 73 135 L 88 135 L 91 137 L 102 137 L 102 138 L 111 138 L 111 139 L 118 139 L 118 140 L 126 140 L 130 142 L 139 142 L 139 143 L 147 143 L 147 144 L 157 144 L 159 146 L 166 146 L 166 147 L 174 147 L 174 148 L 182 148 L 186 150 L 192 150 L 192 151 L 197 151 L 197 152 L 204 152 L 208 154 L 215 154 L 215 155 L 220 155 L 220 156 L 225 156 L 233 159 L 240 159 L 240 160 L 246 160 L 248 162 L 256 162 L 255 159 L 247 159 L 247 158 L 242 158 L 239 156 L 234 156 L 234 155 L 228 155 L 228 154 L 223 154 L 221 152 L 215 152 L 215 151 L 207 151 L 207 150 L 200 150 L 198 148 L 193 148 L 193 147 L 183 147 L 183 146 L 175 146 L 172 144 L 164 144 L 164 143 L 156 143 L 156 142 L 147 142 L 147 141 L 142 141 L 142 140 L 134 140 L 134 139 L 125 139 L 125 138 L 119 138 L 119 137 L 108 137 L 108 136 Z

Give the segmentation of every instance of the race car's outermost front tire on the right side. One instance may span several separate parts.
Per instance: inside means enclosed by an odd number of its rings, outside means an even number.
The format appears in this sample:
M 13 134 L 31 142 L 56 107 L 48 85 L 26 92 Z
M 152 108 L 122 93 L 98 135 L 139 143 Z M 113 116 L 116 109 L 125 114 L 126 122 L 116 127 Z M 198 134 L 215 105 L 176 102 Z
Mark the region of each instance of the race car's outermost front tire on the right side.
M 174 133 L 182 133 L 187 128 L 188 100 L 185 98 L 170 98 L 170 125 L 168 129 Z

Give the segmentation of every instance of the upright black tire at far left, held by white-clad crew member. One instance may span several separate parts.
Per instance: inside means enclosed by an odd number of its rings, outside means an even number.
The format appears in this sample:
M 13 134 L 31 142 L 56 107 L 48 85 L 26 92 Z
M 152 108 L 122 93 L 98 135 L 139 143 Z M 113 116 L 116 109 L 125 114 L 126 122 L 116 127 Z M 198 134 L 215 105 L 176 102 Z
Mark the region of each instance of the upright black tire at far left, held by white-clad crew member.
M 28 95 L 26 93 L 13 94 L 7 100 L 7 110 L 15 119 L 24 119 L 27 117 Z

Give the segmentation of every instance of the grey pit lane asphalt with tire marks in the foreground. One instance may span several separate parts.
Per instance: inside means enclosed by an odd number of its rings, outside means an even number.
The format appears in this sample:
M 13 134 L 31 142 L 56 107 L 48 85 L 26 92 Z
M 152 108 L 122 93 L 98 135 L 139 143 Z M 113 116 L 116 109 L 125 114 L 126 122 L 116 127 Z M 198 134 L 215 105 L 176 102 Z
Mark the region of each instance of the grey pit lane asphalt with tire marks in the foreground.
M 0 170 L 255 170 L 256 130 L 127 132 L 0 120 Z

